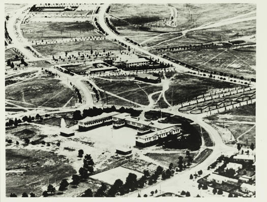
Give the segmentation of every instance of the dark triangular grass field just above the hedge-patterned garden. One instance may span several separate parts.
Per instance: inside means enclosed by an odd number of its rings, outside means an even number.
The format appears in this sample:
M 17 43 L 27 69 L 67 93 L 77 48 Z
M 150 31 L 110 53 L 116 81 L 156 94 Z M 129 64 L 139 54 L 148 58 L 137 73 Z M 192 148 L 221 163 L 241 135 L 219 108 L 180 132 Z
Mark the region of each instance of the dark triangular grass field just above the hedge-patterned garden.
M 236 86 L 236 84 L 180 73 L 172 80 L 169 89 L 165 92 L 165 97 L 170 104 L 173 102 L 173 105 L 177 105 L 211 90 Z

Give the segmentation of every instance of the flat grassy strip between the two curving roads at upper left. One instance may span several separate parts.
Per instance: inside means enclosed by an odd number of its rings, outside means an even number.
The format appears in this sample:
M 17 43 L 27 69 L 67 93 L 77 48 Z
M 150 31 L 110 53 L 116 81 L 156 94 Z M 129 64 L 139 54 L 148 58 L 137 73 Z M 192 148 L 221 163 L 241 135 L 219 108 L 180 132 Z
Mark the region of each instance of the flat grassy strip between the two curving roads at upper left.
M 28 41 L 101 36 L 91 22 L 33 22 L 21 24 L 21 30 Z

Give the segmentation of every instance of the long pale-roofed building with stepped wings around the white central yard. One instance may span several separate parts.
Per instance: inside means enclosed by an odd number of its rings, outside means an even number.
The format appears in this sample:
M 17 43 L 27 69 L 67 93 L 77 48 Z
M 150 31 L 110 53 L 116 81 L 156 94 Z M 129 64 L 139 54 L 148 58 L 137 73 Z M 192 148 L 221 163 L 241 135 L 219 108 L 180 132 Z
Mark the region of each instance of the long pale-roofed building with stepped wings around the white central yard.
M 159 123 L 132 117 L 129 113 L 102 113 L 79 120 L 79 131 L 87 131 L 112 124 L 114 129 L 130 127 L 136 129 L 136 146 L 146 147 L 177 137 L 181 134 L 179 124 Z

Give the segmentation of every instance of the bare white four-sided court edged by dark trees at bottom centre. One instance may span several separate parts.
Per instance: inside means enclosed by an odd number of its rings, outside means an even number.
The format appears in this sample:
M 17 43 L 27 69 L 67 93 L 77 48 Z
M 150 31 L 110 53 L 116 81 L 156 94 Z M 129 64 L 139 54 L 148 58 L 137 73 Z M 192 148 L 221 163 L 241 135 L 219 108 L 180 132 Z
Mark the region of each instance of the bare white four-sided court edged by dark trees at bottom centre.
M 124 183 L 129 173 L 136 174 L 137 180 L 143 175 L 140 172 L 130 170 L 124 167 L 116 167 L 98 174 L 91 175 L 90 178 L 97 179 L 112 185 L 117 179 L 122 180 Z

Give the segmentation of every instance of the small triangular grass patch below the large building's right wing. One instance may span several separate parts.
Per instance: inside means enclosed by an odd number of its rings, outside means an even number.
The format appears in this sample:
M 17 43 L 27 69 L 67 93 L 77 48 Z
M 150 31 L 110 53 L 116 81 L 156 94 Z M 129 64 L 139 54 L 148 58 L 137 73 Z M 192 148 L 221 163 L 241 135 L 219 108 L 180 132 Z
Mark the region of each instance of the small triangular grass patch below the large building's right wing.
M 190 153 L 190 156 L 194 158 L 196 154 Z M 173 163 L 174 167 L 177 165 L 179 161 L 179 157 L 183 157 L 183 161 L 187 163 L 187 158 L 185 153 L 170 153 L 170 154 L 157 154 L 157 153 L 147 153 L 145 156 L 150 157 L 153 160 L 158 161 L 159 163 L 169 166 L 170 163 Z

